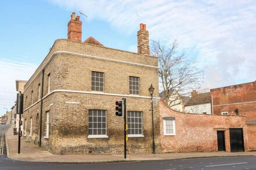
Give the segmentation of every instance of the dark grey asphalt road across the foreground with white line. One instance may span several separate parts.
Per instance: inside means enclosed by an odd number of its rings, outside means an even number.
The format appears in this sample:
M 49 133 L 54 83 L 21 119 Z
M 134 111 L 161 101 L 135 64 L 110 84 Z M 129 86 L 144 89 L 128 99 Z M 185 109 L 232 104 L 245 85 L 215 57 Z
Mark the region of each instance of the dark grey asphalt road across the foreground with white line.
M 194 158 L 182 160 L 159 160 L 159 161 L 138 161 L 119 162 L 104 164 L 66 164 L 66 163 L 43 163 L 14 161 L 0 157 L 0 169 L 256 169 L 256 157 L 218 157 L 218 158 Z

